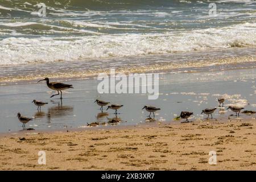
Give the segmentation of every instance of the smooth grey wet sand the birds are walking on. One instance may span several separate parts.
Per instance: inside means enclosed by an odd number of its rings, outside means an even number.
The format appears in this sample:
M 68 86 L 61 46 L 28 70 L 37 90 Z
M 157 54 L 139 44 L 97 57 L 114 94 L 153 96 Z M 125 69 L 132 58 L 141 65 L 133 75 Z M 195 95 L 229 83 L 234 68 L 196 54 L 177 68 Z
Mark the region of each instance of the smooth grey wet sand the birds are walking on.
M 142 110 L 144 105 L 161 108 L 156 112 L 154 122 L 179 122 L 173 119 L 181 110 L 193 111 L 191 121 L 203 119 L 206 116 L 200 114 L 201 110 L 218 106 L 216 99 L 221 96 L 226 98 L 225 108 L 230 104 L 245 106 L 246 110 L 255 110 L 256 107 L 254 69 L 163 74 L 159 78 L 158 100 L 148 100 L 146 94 L 98 94 L 98 82 L 95 79 L 67 83 L 72 83 L 75 89 L 69 89 L 63 94 L 62 103 L 58 96 L 49 98 L 53 93 L 45 83 L 1 86 L 0 132 L 22 130 L 22 123 L 16 117 L 18 112 L 35 118 L 27 124 L 27 128 L 32 127 L 35 130 L 60 130 L 66 127 L 77 129 L 86 127 L 87 123 L 108 122 L 108 118 L 115 118 L 113 110 L 104 110 L 106 114 L 101 113 L 100 107 L 93 103 L 97 98 L 124 105 L 118 110 L 120 114 L 117 114 L 121 119 L 119 126 L 148 122 L 145 120 L 148 113 Z M 47 101 L 49 104 L 38 111 L 31 103 L 34 99 Z M 234 114 L 232 111 L 220 114 L 219 110 L 220 108 L 216 110 L 213 117 L 220 122 Z M 240 116 L 252 117 L 255 118 L 255 114 Z M 105 126 L 100 127 L 104 129 Z

